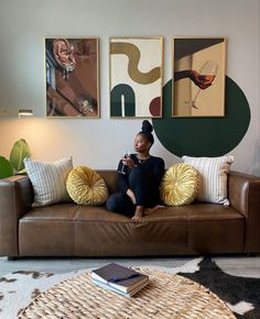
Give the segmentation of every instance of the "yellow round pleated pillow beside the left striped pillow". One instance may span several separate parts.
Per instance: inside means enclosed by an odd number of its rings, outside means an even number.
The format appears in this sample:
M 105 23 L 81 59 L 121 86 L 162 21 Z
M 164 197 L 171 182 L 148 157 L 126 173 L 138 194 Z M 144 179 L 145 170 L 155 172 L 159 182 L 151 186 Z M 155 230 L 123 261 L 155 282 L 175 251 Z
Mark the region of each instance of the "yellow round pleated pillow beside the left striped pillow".
M 78 166 L 71 170 L 66 187 L 71 198 L 79 205 L 97 206 L 108 199 L 105 180 L 87 166 Z

